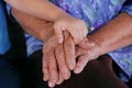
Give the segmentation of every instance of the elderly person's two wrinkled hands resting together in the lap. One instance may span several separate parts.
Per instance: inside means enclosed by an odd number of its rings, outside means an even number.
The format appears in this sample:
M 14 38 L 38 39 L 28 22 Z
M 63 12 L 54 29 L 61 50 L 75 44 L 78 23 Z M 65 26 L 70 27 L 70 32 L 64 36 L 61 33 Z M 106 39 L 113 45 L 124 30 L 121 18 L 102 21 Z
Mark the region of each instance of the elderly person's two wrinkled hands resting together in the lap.
M 100 55 L 98 44 L 88 35 L 75 44 L 68 32 L 64 32 L 64 43 L 58 44 L 55 35 L 43 47 L 43 79 L 50 87 L 70 78 L 70 72 L 79 74 L 89 61 Z

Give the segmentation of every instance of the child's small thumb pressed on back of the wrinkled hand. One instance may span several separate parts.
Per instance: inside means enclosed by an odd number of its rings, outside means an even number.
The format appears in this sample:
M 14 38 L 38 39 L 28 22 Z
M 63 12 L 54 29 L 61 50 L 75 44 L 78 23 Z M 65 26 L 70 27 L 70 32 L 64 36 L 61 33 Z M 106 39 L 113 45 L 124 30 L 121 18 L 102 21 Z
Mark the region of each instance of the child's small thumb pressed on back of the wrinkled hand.
M 64 36 L 63 36 L 64 28 L 54 26 L 54 30 L 55 30 L 55 35 L 58 38 L 58 43 L 63 43 L 63 41 L 64 41 Z

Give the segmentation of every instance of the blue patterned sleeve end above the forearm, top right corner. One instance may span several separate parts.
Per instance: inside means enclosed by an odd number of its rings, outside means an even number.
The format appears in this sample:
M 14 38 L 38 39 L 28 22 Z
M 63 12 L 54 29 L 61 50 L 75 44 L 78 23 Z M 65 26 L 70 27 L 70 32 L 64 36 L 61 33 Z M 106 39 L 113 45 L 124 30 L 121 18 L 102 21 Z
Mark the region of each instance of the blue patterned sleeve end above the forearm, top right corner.
M 132 16 L 132 0 L 128 1 L 128 3 L 124 4 L 122 11 L 129 13 Z

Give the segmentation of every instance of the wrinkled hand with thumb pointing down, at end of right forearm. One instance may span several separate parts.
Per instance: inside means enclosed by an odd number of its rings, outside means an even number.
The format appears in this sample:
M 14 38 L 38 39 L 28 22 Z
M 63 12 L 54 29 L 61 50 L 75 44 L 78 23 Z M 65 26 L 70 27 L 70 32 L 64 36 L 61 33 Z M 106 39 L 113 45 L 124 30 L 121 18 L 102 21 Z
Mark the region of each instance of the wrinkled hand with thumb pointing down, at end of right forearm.
M 74 68 L 75 74 L 82 72 L 87 63 L 100 56 L 100 48 L 98 44 L 88 35 L 77 47 L 76 53 L 78 61 Z

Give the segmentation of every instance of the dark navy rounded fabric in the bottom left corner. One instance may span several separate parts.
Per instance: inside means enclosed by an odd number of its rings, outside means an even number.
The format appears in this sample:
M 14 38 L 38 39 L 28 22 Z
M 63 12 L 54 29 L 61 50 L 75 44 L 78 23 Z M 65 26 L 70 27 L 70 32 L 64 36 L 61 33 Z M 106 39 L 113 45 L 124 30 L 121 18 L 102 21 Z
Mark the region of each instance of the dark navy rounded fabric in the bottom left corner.
M 0 88 L 21 88 L 16 69 L 0 58 Z

